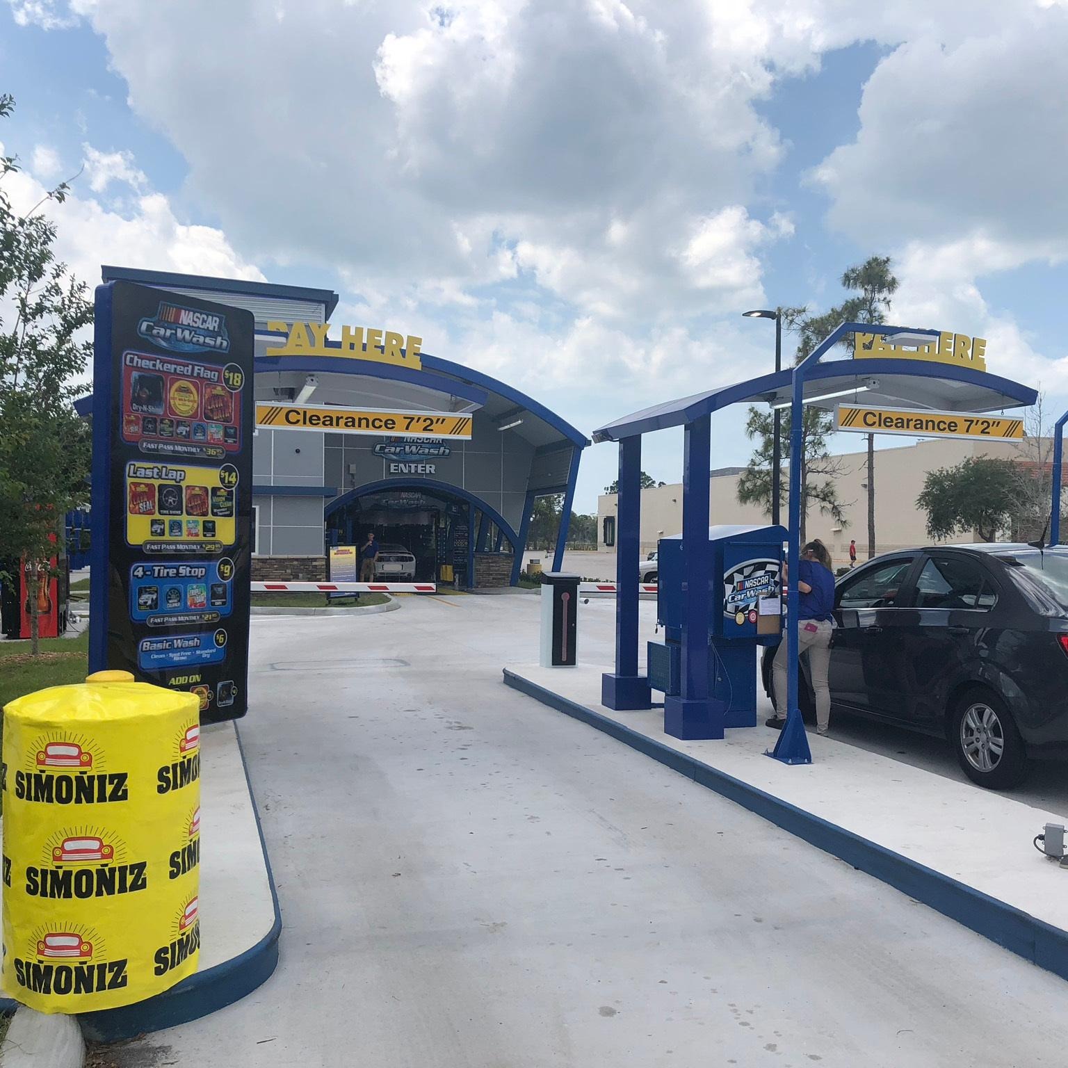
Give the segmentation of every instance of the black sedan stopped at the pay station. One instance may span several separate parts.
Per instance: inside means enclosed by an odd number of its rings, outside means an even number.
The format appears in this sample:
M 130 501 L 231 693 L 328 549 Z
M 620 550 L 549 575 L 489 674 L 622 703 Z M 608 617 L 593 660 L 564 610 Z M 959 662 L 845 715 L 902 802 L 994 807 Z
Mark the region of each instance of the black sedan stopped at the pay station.
M 1068 547 L 888 553 L 838 579 L 834 615 L 833 713 L 948 738 L 992 789 L 1020 783 L 1031 759 L 1068 756 Z

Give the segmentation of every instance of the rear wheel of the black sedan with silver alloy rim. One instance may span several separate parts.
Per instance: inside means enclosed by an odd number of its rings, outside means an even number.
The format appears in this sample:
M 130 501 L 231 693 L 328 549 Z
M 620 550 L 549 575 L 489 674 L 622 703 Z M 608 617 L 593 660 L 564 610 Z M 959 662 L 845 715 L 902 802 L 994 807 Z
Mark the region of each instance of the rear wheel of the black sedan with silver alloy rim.
M 979 786 L 1007 790 L 1027 776 L 1027 751 L 1005 702 L 986 689 L 969 690 L 953 710 L 951 741 L 961 770 Z

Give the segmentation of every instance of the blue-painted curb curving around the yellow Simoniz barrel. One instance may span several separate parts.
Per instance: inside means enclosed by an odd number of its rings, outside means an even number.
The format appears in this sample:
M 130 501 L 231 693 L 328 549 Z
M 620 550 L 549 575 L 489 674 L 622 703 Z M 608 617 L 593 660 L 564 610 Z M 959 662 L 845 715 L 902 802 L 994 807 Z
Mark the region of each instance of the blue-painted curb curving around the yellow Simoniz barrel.
M 274 923 L 271 929 L 254 945 L 231 960 L 216 964 L 203 972 L 197 972 L 183 979 L 164 993 L 135 1005 L 124 1005 L 122 1008 L 101 1009 L 99 1012 L 82 1012 L 78 1017 L 82 1034 L 90 1041 L 115 1042 L 124 1038 L 132 1038 L 151 1031 L 162 1031 L 179 1023 L 199 1020 L 202 1016 L 225 1008 L 246 994 L 252 993 L 270 978 L 278 967 L 278 940 L 282 933 L 282 911 L 278 904 L 278 891 L 274 888 L 274 873 L 271 870 L 267 843 L 264 841 L 263 824 L 260 821 L 260 810 L 256 806 L 256 796 L 249 779 L 249 765 L 245 758 L 245 747 L 241 744 L 241 733 L 234 724 L 237 736 L 237 749 L 241 754 L 241 767 L 245 769 L 245 783 L 249 789 L 252 802 L 252 814 L 256 818 L 256 833 L 260 835 L 260 847 L 263 850 L 264 865 L 267 868 L 267 882 L 270 886 L 271 902 L 274 907 Z

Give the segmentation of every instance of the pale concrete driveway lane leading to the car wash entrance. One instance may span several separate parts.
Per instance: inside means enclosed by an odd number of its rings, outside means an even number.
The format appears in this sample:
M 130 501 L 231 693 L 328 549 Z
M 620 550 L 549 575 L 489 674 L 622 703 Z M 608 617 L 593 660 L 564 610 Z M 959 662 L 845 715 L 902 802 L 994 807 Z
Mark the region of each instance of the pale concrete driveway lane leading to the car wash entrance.
M 1061 979 L 505 689 L 536 629 L 519 596 L 253 621 L 282 962 L 119 1064 L 1063 1063 Z

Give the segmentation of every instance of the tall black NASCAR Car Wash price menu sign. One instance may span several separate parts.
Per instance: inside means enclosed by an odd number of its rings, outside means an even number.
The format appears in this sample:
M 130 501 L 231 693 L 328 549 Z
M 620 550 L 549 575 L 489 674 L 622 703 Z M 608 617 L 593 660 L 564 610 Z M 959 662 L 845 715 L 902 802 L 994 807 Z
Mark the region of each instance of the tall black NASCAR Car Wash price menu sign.
M 248 707 L 251 312 L 96 289 L 90 666 Z

